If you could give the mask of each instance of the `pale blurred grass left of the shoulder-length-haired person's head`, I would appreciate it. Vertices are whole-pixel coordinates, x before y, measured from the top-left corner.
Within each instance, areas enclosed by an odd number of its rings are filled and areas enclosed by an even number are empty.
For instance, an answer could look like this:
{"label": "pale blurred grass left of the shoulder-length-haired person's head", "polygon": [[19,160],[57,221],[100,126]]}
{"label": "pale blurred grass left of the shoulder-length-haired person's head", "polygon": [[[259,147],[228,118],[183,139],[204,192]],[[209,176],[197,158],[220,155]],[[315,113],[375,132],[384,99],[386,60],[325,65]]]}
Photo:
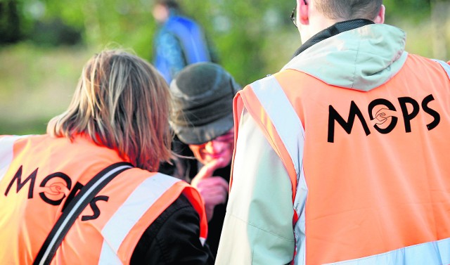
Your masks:
{"label": "pale blurred grass left of the shoulder-length-haired person's head", "polygon": [[82,46],[48,49],[29,43],[0,49],[0,134],[41,134],[70,103],[84,63]]}

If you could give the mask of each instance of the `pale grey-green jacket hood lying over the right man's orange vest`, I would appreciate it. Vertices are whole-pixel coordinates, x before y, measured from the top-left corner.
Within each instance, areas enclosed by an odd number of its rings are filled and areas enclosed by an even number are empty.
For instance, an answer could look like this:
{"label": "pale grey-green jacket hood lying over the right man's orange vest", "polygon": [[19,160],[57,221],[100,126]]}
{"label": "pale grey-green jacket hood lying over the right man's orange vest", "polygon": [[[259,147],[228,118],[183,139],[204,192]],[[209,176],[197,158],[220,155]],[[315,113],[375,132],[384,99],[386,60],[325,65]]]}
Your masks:
{"label": "pale grey-green jacket hood lying over the right man's orange vest", "polygon": [[342,32],[304,50],[283,67],[299,70],[333,86],[370,91],[399,72],[408,53],[406,33],[372,24]]}

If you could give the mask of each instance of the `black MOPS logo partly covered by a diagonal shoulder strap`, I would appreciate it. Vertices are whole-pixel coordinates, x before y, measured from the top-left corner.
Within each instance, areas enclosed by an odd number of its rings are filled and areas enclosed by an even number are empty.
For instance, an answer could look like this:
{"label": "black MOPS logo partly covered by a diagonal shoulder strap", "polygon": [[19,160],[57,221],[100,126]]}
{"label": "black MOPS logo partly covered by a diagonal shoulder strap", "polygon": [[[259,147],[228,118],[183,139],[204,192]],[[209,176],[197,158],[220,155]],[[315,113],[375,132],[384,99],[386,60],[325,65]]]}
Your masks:
{"label": "black MOPS logo partly covered by a diagonal shoulder strap", "polygon": [[[14,184],[16,185],[15,193],[19,193],[20,190],[22,190],[22,188],[24,188],[25,185],[28,184],[27,198],[32,199],[37,172],[38,169],[34,169],[34,171],[30,175],[28,175],[26,179],[23,179],[23,166],[20,166],[18,171],[15,172],[13,179],[11,179],[10,183],[8,184],[8,187],[6,188],[6,191],[4,193],[5,196],[8,196],[8,193],[10,193],[11,188],[13,188]],[[79,182],[75,183],[72,188],[72,179],[70,179],[67,174],[56,172],[49,174],[41,181],[41,183],[39,184],[39,197],[49,205],[57,206],[64,202],[64,210],[69,202],[73,200],[73,198],[75,198],[75,195],[77,195],[78,191],[81,188],[83,188],[83,185]],[[98,195],[93,200],[91,200],[91,202],[89,202],[89,205],[94,214],[90,216],[82,216],[82,221],[97,219],[98,216],[100,216],[101,212],[96,202],[98,202],[99,200],[108,202],[108,199],[108,196]]]}

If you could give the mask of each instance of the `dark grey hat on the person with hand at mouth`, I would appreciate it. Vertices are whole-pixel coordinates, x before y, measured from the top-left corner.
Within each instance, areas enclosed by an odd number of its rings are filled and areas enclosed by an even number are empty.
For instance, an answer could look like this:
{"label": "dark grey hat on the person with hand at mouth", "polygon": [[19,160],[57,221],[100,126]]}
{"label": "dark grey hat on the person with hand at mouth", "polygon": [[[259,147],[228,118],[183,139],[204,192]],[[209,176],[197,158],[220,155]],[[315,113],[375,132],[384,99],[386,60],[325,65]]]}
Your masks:
{"label": "dark grey hat on the person with hand at mouth", "polygon": [[201,144],[233,127],[233,97],[240,86],[215,63],[195,63],[170,83],[170,126],[186,144]]}

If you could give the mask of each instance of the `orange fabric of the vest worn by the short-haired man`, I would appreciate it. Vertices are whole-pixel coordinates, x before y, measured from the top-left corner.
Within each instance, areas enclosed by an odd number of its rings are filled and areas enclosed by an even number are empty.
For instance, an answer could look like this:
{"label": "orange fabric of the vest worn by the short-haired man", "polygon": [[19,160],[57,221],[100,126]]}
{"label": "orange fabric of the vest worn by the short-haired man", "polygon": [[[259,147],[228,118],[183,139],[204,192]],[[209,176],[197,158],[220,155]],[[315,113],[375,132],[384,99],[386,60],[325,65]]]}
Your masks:
{"label": "orange fabric of the vest worn by the short-haired man", "polygon": [[[369,92],[330,86],[296,70],[275,77],[305,130],[306,264],[450,238],[450,85],[438,63],[410,55],[397,75]],[[265,122],[264,110],[248,99],[248,90],[243,93],[245,108],[287,161],[285,150],[269,133],[272,127]],[[374,104],[369,114],[369,106],[378,99],[389,101],[395,110]],[[352,102],[361,110],[369,134],[356,117],[349,133],[331,122],[335,131],[333,142],[328,141],[330,108],[347,121]],[[436,127],[435,113],[440,115]],[[377,114],[379,119],[371,120],[370,115]],[[389,133],[375,129],[386,129],[395,119]]]}

